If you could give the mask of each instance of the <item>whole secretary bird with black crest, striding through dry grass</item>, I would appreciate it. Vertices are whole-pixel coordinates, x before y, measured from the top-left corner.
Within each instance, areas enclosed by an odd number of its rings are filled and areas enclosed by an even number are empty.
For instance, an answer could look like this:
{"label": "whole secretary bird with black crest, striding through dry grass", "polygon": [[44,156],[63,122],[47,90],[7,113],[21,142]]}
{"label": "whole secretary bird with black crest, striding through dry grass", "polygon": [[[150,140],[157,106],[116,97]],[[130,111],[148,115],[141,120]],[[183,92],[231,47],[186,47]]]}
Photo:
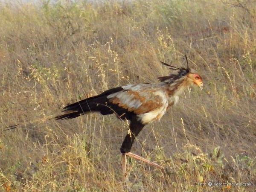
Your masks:
{"label": "whole secretary bird with black crest, striding through dry grass", "polygon": [[[97,96],[67,105],[63,108],[62,113],[54,118],[56,120],[73,119],[94,112],[99,112],[102,115],[115,113],[120,119],[130,121],[130,130],[120,148],[124,175],[126,174],[127,164],[125,156],[142,160],[163,170],[163,167],[157,163],[146,160],[130,151],[135,138],[143,127],[160,120],[166,110],[178,102],[180,94],[183,93],[186,87],[196,84],[202,90],[203,81],[201,76],[198,75],[197,71],[189,68],[187,57],[186,61],[187,68],[177,68],[160,61],[163,65],[168,66],[170,70],[176,70],[177,74],[159,77],[160,83],[129,84],[106,90]],[[10,126],[9,129],[17,126]]]}

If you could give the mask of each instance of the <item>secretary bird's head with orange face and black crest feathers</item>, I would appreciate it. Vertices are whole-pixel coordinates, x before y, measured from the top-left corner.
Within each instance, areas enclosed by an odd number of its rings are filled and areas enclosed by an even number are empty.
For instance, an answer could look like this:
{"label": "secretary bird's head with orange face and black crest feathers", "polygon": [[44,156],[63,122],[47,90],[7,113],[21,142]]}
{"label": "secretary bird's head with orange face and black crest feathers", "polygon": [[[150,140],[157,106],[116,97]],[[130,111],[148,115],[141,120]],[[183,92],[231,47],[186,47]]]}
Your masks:
{"label": "secretary bird's head with orange face and black crest feathers", "polygon": [[171,70],[177,70],[178,74],[171,73],[169,76],[159,77],[158,79],[161,82],[166,82],[166,83],[174,83],[175,81],[186,79],[189,84],[196,84],[202,90],[203,89],[202,77],[198,74],[196,70],[189,68],[189,62],[186,55],[185,55],[185,58],[187,61],[187,68],[184,68],[184,67],[177,68],[160,61],[163,65],[168,66]]}

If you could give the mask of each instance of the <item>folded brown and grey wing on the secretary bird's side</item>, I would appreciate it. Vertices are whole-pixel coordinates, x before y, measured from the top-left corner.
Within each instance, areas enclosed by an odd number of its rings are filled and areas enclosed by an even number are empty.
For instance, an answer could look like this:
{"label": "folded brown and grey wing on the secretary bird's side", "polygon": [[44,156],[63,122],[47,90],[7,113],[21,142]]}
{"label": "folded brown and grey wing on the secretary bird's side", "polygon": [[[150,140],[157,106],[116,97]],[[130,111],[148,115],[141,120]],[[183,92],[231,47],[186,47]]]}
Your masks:
{"label": "folded brown and grey wing on the secretary bird's side", "polygon": [[124,90],[108,95],[119,107],[136,114],[148,113],[163,107],[168,102],[162,87],[156,84],[137,84],[122,87]]}

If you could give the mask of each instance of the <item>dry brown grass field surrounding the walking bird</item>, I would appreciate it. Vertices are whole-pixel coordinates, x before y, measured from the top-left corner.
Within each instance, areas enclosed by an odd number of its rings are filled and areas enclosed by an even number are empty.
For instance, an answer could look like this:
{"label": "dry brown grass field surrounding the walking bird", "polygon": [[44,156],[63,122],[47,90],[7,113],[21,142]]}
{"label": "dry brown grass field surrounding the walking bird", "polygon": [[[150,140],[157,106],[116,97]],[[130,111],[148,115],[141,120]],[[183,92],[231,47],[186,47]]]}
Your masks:
{"label": "dry brown grass field surrounding the walking bird", "polygon": [[[255,1],[2,3],[0,18],[1,192],[256,191]],[[170,73],[159,61],[185,67],[185,54],[204,89],[186,90],[132,148],[166,172],[129,158],[123,178],[128,122],[115,115],[45,120],[109,88],[156,83]]]}

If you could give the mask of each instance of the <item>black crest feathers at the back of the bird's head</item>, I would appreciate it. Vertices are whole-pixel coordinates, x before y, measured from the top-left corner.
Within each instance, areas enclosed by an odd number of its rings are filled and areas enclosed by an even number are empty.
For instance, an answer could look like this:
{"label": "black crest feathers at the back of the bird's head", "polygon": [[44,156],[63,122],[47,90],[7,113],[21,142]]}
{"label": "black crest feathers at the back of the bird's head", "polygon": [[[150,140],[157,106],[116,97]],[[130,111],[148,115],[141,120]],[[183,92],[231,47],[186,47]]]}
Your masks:
{"label": "black crest feathers at the back of the bird's head", "polygon": [[186,74],[189,73],[190,69],[189,69],[189,62],[188,62],[188,58],[187,56],[185,55],[185,58],[186,58],[186,61],[187,61],[187,68],[184,68],[184,67],[174,67],[172,65],[169,65],[169,64],[166,64],[164,63],[163,61],[160,61],[163,65],[165,66],[168,66],[170,70],[177,70],[178,71],[178,74],[170,74],[169,76],[164,76],[164,77],[158,77],[158,79],[163,82],[163,81],[166,81],[166,80],[176,80],[176,79],[179,79],[180,77],[182,76],[185,76]]}

